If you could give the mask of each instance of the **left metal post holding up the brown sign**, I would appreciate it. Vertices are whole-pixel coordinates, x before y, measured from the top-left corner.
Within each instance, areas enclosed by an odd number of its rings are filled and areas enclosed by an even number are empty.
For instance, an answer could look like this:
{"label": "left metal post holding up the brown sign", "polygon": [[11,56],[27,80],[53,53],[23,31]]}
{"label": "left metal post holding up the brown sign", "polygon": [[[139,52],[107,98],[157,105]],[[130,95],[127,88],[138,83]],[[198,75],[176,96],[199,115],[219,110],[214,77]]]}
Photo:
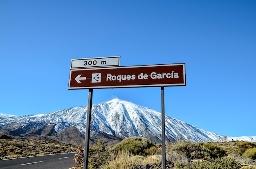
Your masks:
{"label": "left metal post holding up the brown sign", "polygon": [[93,89],[89,89],[87,117],[86,117],[85,148],[84,148],[84,156],[83,156],[83,169],[87,169],[87,166],[88,166],[91,115],[92,115],[92,92],[93,92]]}

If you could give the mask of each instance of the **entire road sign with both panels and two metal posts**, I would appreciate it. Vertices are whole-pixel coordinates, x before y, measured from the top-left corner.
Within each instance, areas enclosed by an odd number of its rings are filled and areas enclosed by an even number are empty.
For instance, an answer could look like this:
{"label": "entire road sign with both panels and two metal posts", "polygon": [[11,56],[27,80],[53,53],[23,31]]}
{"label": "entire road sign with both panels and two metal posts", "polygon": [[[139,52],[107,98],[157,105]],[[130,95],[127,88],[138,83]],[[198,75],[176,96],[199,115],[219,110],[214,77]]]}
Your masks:
{"label": "entire road sign with both panels and two metal posts", "polygon": [[68,89],[89,89],[83,169],[88,166],[93,89],[161,87],[162,162],[165,158],[164,86],[186,86],[185,64],[120,66],[120,56],[72,59]]}

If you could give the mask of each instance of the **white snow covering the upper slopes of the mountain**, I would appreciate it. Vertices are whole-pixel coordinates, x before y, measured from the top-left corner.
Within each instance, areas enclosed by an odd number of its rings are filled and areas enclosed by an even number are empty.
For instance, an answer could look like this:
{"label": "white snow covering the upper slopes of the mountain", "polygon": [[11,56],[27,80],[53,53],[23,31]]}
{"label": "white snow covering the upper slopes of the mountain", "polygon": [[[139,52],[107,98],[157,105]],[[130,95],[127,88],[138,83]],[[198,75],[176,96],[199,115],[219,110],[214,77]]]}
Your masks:
{"label": "white snow covering the upper slopes of the mountain", "polygon": [[[56,132],[65,127],[74,126],[85,134],[87,106],[59,110],[50,114],[11,116],[0,114],[0,126],[20,123],[33,123],[31,129],[42,126],[42,123],[55,125]],[[170,116],[165,116],[166,141],[173,142],[182,138],[193,142],[223,141],[215,133],[199,129],[193,125]],[[128,138],[140,136],[155,143],[162,139],[161,113],[127,101],[113,99],[106,103],[92,105],[92,130],[101,133]]]}

